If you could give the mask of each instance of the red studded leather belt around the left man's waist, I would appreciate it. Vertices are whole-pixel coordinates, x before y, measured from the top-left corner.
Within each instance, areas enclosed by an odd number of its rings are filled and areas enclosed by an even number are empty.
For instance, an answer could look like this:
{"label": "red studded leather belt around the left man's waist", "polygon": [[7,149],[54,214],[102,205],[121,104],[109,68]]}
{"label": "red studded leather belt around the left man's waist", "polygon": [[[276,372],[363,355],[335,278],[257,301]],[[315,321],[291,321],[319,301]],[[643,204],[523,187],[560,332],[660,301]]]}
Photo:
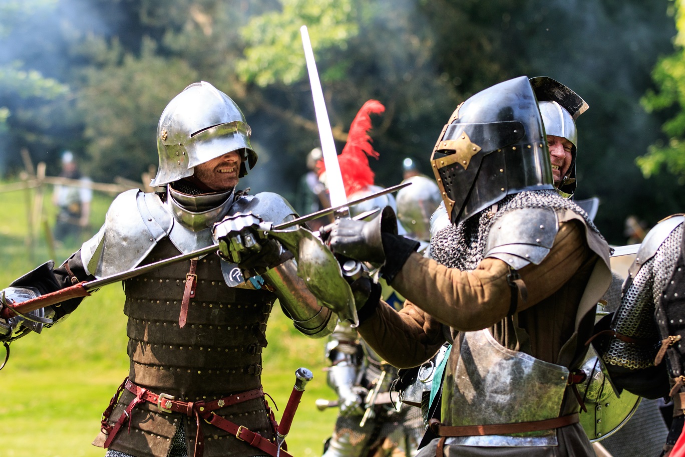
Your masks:
{"label": "red studded leather belt around the left man's waist", "polygon": [[[136,395],[131,403],[125,408],[123,414],[119,419],[116,420],[114,425],[108,423],[109,415],[112,413],[112,409],[119,398],[119,395],[126,389],[130,393]],[[220,428],[225,432],[229,432],[234,435],[237,439],[245,441],[249,445],[261,449],[267,454],[275,457],[278,454],[278,447],[264,436],[252,432],[243,425],[237,425],[228,419],[214,414],[214,410],[223,408],[224,406],[229,406],[233,404],[238,404],[240,402],[246,402],[247,400],[264,397],[264,391],[262,388],[256,388],[252,391],[236,393],[234,395],[228,395],[212,402],[182,402],[175,399],[171,395],[165,393],[153,393],[145,387],[140,387],[131,382],[128,378],[119,386],[119,390],[116,392],[114,397],[112,397],[112,402],[110,406],[103,413],[102,421],[102,431],[107,434],[107,439],[105,439],[104,447],[110,447],[110,444],[114,440],[114,436],[121,430],[121,427],[126,423],[131,417],[131,412],[136,405],[142,402],[149,402],[160,410],[160,412],[178,412],[184,414],[188,417],[195,417],[197,421],[197,434],[195,436],[195,457],[202,457],[204,449],[204,435],[202,433],[200,419],[204,419],[208,423],[214,425],[216,428]],[[129,422],[129,432],[131,429],[131,423]],[[292,457],[284,449],[281,449],[280,455],[284,457]]]}

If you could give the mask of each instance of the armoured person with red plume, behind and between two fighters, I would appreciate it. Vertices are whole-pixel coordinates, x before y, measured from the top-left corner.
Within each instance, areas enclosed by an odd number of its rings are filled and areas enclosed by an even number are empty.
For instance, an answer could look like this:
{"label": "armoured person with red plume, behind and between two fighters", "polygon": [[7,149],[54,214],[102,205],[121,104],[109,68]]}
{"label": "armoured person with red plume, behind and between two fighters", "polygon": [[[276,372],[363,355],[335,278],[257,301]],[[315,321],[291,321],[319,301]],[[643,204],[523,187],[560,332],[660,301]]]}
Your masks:
{"label": "armoured person with red plume, behind and between two fighters", "polygon": [[[366,134],[371,126],[369,113],[379,114],[382,110],[384,106],[378,101],[366,101],[350,125],[347,144],[338,158],[348,200],[382,190],[374,184],[374,173],[366,157],[378,155]],[[410,188],[412,186],[406,189]],[[353,206],[350,215],[354,217],[386,207],[397,208],[395,198],[390,194]],[[406,233],[399,223],[396,228],[398,232]],[[404,301],[386,284],[383,284],[383,297],[395,306],[401,306]],[[423,434],[423,423],[418,410],[407,406],[396,408],[393,400],[397,397],[390,397],[390,385],[397,369],[376,354],[346,321],[340,321],[329,338],[326,356],[331,361],[327,380],[338,395],[340,414],[323,455],[364,457],[383,448],[414,456]]]}

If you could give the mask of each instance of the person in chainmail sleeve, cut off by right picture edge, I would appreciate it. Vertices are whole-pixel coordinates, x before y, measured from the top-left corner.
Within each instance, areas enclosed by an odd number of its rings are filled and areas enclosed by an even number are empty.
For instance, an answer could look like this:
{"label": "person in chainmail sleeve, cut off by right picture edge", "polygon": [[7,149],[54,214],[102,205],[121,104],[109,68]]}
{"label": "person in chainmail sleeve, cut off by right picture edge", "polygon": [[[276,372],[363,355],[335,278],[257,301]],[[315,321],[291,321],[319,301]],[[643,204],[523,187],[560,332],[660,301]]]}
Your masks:
{"label": "person in chainmail sleeve, cut off by right picture edge", "polygon": [[673,400],[666,455],[685,423],[683,221],[682,214],[675,214],[649,231],[628,270],[619,309],[602,332],[610,337],[593,341],[619,388]]}

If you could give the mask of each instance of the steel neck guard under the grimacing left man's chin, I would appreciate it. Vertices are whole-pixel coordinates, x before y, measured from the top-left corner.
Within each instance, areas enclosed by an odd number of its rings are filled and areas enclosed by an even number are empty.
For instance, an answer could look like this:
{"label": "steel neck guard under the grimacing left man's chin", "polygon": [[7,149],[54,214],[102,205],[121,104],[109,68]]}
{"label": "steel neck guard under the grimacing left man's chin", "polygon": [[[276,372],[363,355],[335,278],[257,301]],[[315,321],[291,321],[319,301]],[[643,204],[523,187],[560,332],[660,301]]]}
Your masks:
{"label": "steel neck guard under the grimacing left man's chin", "polygon": [[169,186],[169,206],[176,221],[199,232],[221,221],[233,204],[236,189],[189,195]]}

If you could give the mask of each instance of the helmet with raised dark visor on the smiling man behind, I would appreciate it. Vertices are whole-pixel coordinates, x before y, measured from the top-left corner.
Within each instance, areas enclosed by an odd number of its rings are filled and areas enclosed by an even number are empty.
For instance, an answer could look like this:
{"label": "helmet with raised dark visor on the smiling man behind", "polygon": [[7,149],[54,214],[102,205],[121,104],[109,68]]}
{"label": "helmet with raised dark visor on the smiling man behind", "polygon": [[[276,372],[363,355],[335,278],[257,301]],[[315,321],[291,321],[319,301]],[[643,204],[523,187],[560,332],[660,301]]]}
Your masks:
{"label": "helmet with raised dark visor on the smiling man behind", "polygon": [[545,133],[566,138],[573,144],[571,166],[569,166],[566,176],[562,177],[561,183],[558,184],[562,193],[571,196],[575,192],[575,158],[578,149],[578,131],[575,127],[575,119],[583,114],[589,106],[573,90],[550,77],[532,77],[530,84],[533,86],[540,105]]}

